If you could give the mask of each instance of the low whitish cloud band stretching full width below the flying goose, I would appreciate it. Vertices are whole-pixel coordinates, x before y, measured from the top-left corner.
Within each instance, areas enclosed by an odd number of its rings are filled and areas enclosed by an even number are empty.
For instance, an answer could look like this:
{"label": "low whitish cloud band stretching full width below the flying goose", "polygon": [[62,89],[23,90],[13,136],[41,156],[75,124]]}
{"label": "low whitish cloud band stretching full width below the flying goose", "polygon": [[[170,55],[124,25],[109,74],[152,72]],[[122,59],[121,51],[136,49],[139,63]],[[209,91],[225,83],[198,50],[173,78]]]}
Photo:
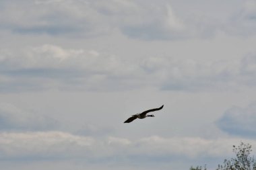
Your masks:
{"label": "low whitish cloud band stretching full width below the flying goose", "polygon": [[[222,138],[207,140],[204,138],[163,138],[150,136],[129,140],[127,138],[106,137],[92,138],[90,136],[77,136],[65,132],[26,132],[0,134],[0,152],[2,159],[22,159],[27,157],[55,159],[80,158],[88,161],[151,161],[158,157],[182,156],[185,159],[199,159],[201,157],[224,157],[232,154],[232,145],[239,144],[240,138]],[[247,141],[246,141],[247,142]],[[248,140],[255,146],[254,140]],[[67,154],[68,153],[68,154]],[[141,159],[133,159],[144,155]],[[137,157],[139,158],[139,157]]]}

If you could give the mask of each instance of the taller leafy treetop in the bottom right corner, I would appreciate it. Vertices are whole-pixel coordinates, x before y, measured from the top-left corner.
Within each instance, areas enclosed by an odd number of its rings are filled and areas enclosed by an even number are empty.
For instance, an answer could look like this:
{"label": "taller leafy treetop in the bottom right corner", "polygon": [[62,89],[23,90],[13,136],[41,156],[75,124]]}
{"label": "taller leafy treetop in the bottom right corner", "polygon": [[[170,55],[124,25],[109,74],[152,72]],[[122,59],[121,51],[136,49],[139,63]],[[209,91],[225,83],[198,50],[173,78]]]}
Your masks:
{"label": "taller leafy treetop in the bottom right corner", "polygon": [[256,170],[256,161],[251,157],[251,144],[241,142],[240,146],[233,146],[236,158],[224,160],[224,165],[218,165],[216,170]]}

